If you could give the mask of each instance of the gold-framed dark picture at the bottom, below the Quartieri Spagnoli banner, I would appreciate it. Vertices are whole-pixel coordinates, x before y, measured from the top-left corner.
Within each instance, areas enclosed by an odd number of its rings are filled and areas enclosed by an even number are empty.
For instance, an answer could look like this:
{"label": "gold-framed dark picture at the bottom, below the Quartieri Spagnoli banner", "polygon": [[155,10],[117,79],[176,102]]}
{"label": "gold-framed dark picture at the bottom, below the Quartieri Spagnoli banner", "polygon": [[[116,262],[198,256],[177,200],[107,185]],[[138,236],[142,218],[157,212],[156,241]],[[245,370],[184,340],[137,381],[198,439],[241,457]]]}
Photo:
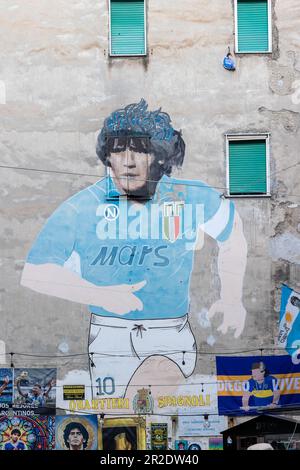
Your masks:
{"label": "gold-framed dark picture at the bottom, below the Quartieri Spagnoli banner", "polygon": [[146,421],[144,418],[107,418],[99,424],[99,449],[145,450]]}

